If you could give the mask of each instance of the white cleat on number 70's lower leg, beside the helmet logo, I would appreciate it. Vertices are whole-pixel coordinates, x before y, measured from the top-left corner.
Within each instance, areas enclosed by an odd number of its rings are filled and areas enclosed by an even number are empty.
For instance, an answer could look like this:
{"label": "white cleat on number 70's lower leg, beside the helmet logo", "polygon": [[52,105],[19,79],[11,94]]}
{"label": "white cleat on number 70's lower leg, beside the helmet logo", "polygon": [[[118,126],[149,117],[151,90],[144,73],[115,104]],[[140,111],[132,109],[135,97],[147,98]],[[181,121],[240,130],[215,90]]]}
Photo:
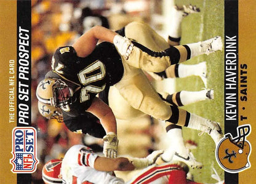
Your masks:
{"label": "white cleat on number 70's lower leg, beside the helmet logo", "polygon": [[202,124],[200,130],[202,131],[198,135],[201,136],[204,133],[207,133],[212,137],[217,146],[220,140],[223,138],[222,128],[218,122],[207,120],[206,124]]}

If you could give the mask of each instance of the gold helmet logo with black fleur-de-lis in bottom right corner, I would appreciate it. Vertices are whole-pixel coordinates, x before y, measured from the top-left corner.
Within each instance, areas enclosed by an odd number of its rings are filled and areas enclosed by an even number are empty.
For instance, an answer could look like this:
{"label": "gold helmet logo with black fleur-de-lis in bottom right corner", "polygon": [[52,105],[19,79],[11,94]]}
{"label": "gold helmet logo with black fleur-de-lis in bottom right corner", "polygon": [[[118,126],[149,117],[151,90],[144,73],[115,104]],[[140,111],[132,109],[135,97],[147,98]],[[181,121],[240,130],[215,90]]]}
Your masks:
{"label": "gold helmet logo with black fleur-de-lis in bottom right corner", "polygon": [[228,133],[218,143],[216,159],[223,170],[230,173],[238,173],[250,168],[249,155],[251,152],[250,142],[246,140],[250,134],[250,124],[236,128],[238,135],[234,137]]}

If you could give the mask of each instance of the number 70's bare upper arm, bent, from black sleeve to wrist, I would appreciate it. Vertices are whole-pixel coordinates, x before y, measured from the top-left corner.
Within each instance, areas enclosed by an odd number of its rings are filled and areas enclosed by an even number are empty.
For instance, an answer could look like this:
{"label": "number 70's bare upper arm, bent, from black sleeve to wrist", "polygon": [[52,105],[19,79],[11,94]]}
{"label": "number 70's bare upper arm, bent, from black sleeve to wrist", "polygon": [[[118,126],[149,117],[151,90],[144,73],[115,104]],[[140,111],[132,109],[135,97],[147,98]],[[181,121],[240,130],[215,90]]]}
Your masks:
{"label": "number 70's bare upper arm, bent, from black sleeve to wrist", "polygon": [[94,26],[73,44],[74,50],[79,57],[87,57],[95,49],[98,40],[113,43],[114,36],[118,33],[111,31],[103,26]]}

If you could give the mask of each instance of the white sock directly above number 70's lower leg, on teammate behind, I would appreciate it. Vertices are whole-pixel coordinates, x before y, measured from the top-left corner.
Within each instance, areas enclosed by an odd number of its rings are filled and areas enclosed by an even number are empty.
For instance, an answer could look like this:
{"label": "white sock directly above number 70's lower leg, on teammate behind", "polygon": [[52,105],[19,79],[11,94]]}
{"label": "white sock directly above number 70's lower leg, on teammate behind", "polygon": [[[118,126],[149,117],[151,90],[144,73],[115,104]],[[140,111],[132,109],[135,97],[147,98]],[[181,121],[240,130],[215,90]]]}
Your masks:
{"label": "white sock directly above number 70's lower leg, on teammate behind", "polygon": [[200,102],[202,100],[208,99],[206,97],[206,93],[207,93],[207,90],[199,90],[199,91],[182,90],[180,92],[180,101],[182,101],[183,105]]}

